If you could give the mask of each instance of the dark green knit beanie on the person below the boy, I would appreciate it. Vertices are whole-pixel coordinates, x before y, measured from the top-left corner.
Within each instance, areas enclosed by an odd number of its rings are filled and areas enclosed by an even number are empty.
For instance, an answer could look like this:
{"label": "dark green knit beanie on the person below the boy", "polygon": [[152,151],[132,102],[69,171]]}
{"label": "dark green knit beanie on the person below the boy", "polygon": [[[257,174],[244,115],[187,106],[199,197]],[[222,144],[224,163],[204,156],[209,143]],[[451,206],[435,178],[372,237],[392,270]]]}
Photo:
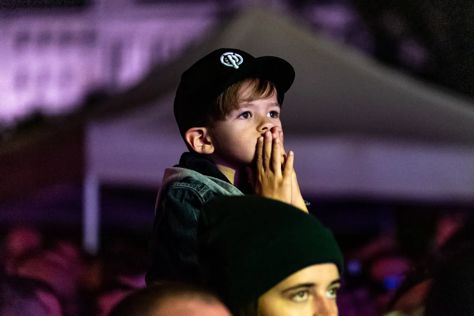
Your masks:
{"label": "dark green knit beanie on the person below the boy", "polygon": [[255,195],[220,196],[204,205],[198,243],[204,281],[234,314],[310,265],[343,269],[334,236],[316,217]]}

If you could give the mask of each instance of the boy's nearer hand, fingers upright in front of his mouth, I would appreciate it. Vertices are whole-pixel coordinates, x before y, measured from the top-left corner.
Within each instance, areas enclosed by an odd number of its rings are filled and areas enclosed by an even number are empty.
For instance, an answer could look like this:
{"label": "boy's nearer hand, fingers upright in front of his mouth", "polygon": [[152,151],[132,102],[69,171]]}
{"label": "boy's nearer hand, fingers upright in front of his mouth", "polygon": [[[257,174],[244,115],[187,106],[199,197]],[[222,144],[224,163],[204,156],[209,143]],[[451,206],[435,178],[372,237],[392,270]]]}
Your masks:
{"label": "boy's nearer hand, fingers upright in front of his mouth", "polygon": [[[282,168],[280,138],[273,138],[270,131],[258,137],[256,148],[256,174],[247,167],[247,175],[256,194],[291,204],[293,153],[290,152]],[[283,171],[282,171],[283,169]]]}

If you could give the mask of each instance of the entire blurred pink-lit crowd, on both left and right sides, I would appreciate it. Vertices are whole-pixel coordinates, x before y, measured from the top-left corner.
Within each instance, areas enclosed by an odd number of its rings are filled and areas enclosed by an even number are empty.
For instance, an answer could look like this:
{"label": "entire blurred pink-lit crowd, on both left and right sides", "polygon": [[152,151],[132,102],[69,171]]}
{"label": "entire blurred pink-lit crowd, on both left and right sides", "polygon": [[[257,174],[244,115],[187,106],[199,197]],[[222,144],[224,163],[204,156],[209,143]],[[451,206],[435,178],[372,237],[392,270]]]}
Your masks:
{"label": "entire blurred pink-lit crowd, on both left and right sides", "polygon": [[[346,260],[337,294],[339,315],[380,316],[393,309],[423,315],[437,271],[447,257],[470,253],[474,242],[468,212],[429,215],[414,217],[410,225],[400,219],[403,231],[419,227],[405,236],[353,235],[348,243],[336,235]],[[420,223],[427,220],[429,225]],[[38,316],[105,316],[127,295],[145,288],[146,242],[137,236],[116,234],[104,242],[98,256],[86,255],[78,240],[63,236],[34,227],[11,227],[4,232],[1,315],[30,315],[28,311],[36,308]],[[15,307],[25,314],[5,312]],[[44,308],[42,313],[37,312],[39,307]]]}

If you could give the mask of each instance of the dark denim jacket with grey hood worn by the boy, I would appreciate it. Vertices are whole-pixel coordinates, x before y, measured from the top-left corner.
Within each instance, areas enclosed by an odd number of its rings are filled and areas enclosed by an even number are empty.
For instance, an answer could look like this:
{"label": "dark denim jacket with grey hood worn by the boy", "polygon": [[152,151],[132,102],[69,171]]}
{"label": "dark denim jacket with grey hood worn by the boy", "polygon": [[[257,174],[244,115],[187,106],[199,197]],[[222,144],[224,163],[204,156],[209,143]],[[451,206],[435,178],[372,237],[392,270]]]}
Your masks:
{"label": "dark denim jacket with grey hood worn by the boy", "polygon": [[204,155],[183,153],[178,165],[165,170],[158,191],[146,283],[199,284],[196,229],[200,209],[217,195],[243,194]]}

